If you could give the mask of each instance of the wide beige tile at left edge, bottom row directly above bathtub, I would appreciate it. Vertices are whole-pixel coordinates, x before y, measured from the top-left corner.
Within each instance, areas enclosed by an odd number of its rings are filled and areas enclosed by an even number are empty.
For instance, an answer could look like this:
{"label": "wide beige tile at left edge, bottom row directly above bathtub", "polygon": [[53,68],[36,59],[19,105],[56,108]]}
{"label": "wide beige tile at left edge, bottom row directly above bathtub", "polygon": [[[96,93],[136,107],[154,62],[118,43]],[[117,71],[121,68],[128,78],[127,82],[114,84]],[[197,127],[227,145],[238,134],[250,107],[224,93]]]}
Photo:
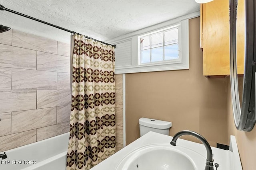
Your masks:
{"label": "wide beige tile at left edge, bottom row directly above bathtub", "polygon": [[0,152],[36,142],[36,130],[0,137]]}

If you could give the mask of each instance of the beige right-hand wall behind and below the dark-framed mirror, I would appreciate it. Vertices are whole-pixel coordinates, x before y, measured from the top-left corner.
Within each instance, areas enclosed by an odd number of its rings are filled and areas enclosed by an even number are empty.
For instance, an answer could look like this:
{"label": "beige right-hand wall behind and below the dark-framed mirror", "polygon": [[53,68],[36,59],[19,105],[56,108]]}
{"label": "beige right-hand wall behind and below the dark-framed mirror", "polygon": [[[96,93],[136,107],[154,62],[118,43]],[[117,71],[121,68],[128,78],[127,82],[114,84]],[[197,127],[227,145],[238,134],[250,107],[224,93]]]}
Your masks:
{"label": "beige right-hand wall behind and below the dark-framed mirror", "polygon": [[[242,92],[243,78],[238,78],[239,92]],[[240,94],[241,96],[241,94]],[[255,170],[255,155],[256,155],[256,126],[250,132],[238,131],[234,124],[230,80],[228,80],[228,95],[227,95],[227,109],[228,109],[228,137],[234,135],[244,170]]]}

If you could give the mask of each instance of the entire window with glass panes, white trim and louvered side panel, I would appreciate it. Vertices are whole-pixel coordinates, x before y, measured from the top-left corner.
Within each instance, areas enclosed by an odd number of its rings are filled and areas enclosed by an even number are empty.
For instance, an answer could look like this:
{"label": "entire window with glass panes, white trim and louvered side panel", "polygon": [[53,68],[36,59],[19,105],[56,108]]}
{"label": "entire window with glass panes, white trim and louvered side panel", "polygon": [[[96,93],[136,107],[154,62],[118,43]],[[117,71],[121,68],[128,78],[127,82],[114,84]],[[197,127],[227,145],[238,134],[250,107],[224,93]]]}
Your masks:
{"label": "entire window with glass panes, white trim and louvered side panel", "polygon": [[189,69],[188,20],[199,12],[116,37],[116,74]]}

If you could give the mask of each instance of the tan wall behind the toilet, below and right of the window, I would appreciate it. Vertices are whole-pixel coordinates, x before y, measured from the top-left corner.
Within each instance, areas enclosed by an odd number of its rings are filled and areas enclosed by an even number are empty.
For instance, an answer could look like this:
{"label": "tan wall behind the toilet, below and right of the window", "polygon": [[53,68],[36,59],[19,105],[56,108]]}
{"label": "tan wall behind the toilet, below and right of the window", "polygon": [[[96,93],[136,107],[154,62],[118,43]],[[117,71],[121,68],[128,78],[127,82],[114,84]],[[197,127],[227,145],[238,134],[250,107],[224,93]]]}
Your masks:
{"label": "tan wall behind the toilet, below and right of the window", "polygon": [[[225,78],[203,76],[200,20],[189,21],[189,70],[126,74],[126,143],[140,137],[140,117],[171,121],[170,135],[192,130],[228,145]],[[185,137],[196,141],[193,137]]]}

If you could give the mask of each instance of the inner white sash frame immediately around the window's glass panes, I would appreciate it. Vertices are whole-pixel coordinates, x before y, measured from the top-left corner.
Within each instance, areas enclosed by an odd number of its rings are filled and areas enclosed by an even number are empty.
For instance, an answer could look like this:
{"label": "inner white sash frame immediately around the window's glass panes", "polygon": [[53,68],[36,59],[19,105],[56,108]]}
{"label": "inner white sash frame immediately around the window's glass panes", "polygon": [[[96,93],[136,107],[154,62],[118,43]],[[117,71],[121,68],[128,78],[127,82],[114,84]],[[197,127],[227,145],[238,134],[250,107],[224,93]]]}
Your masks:
{"label": "inner white sash frame immediately around the window's glass panes", "polygon": [[[140,63],[140,38],[141,37],[146,37],[147,35],[150,35],[150,41],[151,41],[151,36],[156,34],[156,33],[160,33],[160,32],[163,32],[163,46],[159,46],[159,47],[163,47],[164,48],[164,31],[167,31],[169,29],[172,29],[172,28],[178,28],[178,46],[179,46],[179,58],[178,59],[173,59],[173,60],[163,60],[163,61],[154,61],[154,62],[149,62],[149,63]],[[156,30],[156,31],[153,31],[151,33],[147,33],[147,34],[144,34],[144,35],[140,35],[138,36],[138,65],[142,66],[142,65],[147,65],[147,66],[154,66],[154,65],[159,65],[159,64],[172,64],[172,63],[180,63],[181,62],[181,49],[182,49],[182,39],[181,39],[181,23],[178,23],[176,25],[172,25],[170,27],[167,27],[167,28],[164,28],[164,29],[159,29],[159,30]],[[154,48],[157,48],[157,47],[154,47]],[[149,48],[150,49],[150,56],[151,56],[151,49],[154,49],[154,48]],[[151,57],[150,57],[151,58]]]}

